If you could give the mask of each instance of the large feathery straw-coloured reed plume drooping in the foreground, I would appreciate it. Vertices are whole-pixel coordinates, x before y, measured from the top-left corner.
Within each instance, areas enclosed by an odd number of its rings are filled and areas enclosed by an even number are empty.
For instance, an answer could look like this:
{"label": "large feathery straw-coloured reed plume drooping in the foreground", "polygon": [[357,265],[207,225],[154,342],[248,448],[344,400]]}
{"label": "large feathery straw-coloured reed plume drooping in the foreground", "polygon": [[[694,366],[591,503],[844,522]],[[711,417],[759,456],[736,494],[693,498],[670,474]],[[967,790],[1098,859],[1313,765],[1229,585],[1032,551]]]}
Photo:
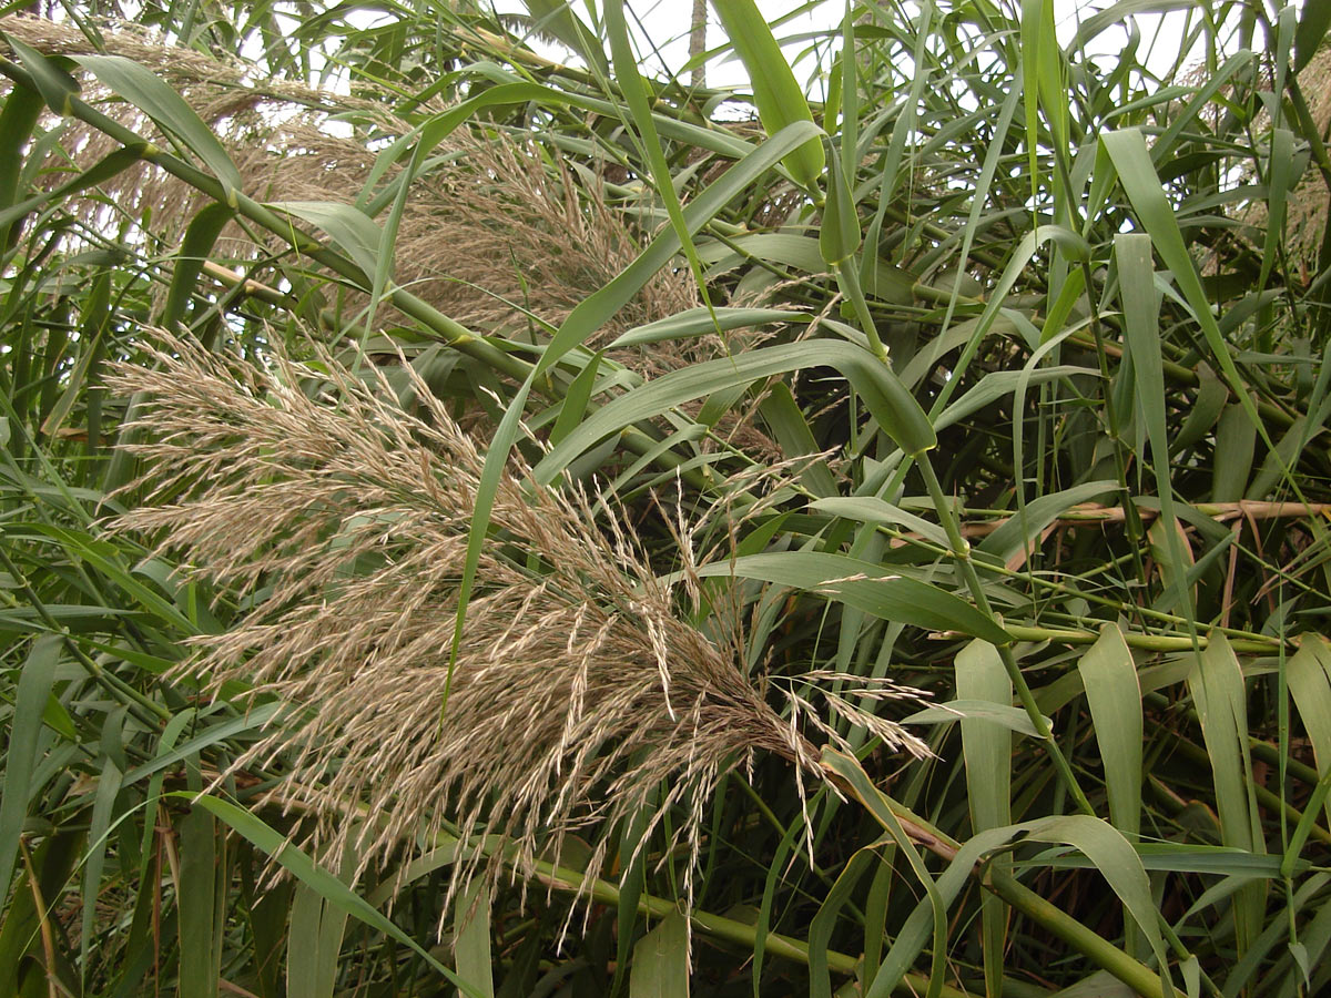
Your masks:
{"label": "large feathery straw-coloured reed plume drooping in the foreground", "polygon": [[[516,460],[450,685],[475,442],[419,382],[418,413],[403,411],[374,367],[355,377],[317,351],[314,366],[278,357],[262,370],[160,342],[154,369],[121,366],[112,383],[153,399],[138,422],[142,504],[116,528],[260,593],[197,639],[185,672],[285,705],[236,766],[285,773],[274,797],[323,816],[321,850],[369,864],[439,832],[502,836],[506,862],[530,873],[570,833],[677,805],[691,817],[668,845],[696,857],[703,801],[729,768],[765,750],[817,772],[735,651],[680,619],[614,504],[594,512]],[[349,821],[359,804],[367,820]],[[588,876],[630,858],[594,841]],[[500,852],[457,864],[451,890],[498,874]]]}

